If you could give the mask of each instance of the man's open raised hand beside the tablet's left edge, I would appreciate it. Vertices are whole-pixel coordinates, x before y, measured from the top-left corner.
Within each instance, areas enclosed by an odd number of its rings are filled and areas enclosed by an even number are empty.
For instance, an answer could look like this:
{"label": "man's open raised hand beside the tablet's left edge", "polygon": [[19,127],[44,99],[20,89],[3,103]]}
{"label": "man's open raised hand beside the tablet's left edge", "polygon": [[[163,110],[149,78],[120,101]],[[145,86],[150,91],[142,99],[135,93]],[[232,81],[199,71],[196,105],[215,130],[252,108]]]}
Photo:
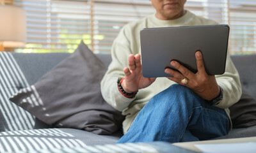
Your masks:
{"label": "man's open raised hand beside the tablet's left edge", "polygon": [[151,85],[156,78],[145,78],[142,76],[140,54],[129,55],[129,68],[124,68],[125,80],[122,82],[122,87],[125,92],[132,93]]}

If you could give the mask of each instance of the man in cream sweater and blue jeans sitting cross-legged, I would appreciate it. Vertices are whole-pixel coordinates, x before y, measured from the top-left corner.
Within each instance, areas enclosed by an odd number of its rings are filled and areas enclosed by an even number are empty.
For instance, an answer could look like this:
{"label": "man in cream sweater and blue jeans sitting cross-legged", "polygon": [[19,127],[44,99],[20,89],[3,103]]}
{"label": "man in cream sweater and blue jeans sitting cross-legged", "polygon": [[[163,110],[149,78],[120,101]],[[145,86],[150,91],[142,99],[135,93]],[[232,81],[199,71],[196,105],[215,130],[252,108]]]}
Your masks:
{"label": "man in cream sweater and blue jeans sitting cross-legged", "polygon": [[144,78],[140,61],[142,28],[218,23],[184,10],[186,0],[150,1],[156,13],[123,27],[101,82],[104,99],[125,115],[125,135],[118,143],[187,142],[227,135],[232,125],[228,107],[241,97],[239,75],[230,57],[225,73],[216,76],[207,75],[200,52],[195,54],[197,73],[172,61],[180,73],[165,69],[173,76],[168,78]]}

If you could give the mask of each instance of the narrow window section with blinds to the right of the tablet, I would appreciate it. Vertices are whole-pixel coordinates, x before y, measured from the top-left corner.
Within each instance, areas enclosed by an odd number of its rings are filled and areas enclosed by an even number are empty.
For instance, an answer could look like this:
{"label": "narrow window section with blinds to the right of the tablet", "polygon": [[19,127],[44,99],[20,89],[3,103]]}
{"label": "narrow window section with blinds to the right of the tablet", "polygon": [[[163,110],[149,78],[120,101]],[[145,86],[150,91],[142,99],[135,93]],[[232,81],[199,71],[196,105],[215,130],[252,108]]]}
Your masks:
{"label": "narrow window section with blinds to the right of the tablet", "polygon": [[230,0],[230,47],[234,53],[256,51],[256,1]]}

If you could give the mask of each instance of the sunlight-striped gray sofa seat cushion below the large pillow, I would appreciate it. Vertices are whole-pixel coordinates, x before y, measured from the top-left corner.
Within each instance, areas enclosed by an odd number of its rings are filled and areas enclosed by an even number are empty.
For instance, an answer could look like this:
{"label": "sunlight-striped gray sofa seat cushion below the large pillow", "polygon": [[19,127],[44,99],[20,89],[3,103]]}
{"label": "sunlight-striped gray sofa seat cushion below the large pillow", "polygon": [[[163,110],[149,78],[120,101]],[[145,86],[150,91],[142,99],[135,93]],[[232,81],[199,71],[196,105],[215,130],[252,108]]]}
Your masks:
{"label": "sunlight-striped gray sofa seat cushion below the large pillow", "polygon": [[42,149],[114,144],[118,138],[118,134],[116,136],[102,136],[68,128],[7,131],[0,133],[0,152],[31,152]]}

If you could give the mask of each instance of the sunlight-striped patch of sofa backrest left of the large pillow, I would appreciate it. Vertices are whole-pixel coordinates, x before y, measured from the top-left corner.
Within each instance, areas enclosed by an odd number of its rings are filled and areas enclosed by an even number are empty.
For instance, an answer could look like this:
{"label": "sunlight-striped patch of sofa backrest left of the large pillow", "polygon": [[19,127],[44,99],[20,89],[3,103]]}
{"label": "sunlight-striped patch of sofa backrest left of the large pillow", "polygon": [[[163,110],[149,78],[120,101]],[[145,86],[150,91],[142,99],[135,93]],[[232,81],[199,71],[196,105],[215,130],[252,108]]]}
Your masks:
{"label": "sunlight-striped patch of sofa backrest left of the large pillow", "polygon": [[0,130],[33,129],[35,117],[8,98],[29,84],[12,54],[0,53]]}

